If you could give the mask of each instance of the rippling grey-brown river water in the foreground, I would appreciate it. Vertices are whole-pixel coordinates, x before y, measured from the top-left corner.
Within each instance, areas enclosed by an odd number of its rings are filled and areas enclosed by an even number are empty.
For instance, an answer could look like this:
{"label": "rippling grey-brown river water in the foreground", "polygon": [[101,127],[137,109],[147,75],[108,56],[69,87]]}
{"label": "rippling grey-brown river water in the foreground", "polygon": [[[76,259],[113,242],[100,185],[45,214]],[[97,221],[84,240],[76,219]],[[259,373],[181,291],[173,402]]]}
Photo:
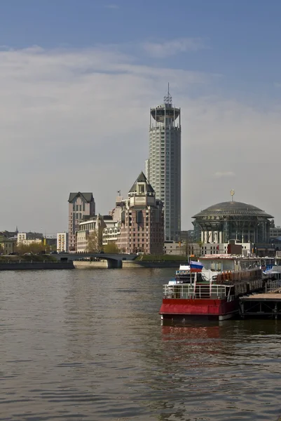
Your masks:
{"label": "rippling grey-brown river water in the foreground", "polygon": [[162,326],[173,273],[0,272],[0,420],[276,421],[280,321]]}

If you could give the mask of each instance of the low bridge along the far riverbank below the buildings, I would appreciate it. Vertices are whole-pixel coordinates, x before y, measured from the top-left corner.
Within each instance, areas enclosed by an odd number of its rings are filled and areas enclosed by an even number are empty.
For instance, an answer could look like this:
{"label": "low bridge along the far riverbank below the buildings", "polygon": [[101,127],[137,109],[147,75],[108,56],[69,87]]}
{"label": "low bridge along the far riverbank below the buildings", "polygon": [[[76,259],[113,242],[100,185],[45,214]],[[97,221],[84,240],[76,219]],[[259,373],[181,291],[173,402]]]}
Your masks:
{"label": "low bridge along the far riverbank below the buildings", "polygon": [[57,260],[81,260],[85,258],[107,260],[107,267],[122,267],[123,260],[135,260],[136,254],[115,254],[115,253],[59,253],[54,254]]}

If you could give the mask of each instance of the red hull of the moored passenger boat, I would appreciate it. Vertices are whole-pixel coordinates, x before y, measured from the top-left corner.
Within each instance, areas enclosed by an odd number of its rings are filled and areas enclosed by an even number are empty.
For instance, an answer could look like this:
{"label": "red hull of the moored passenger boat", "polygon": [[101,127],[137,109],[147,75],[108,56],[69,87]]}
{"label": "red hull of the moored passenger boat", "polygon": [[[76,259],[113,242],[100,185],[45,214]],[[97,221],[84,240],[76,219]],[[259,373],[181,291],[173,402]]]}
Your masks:
{"label": "red hull of the moored passenger boat", "polygon": [[238,300],[212,300],[212,299],[173,299],[163,298],[160,312],[163,319],[182,318],[192,316],[207,316],[212,319],[230,319],[238,313]]}

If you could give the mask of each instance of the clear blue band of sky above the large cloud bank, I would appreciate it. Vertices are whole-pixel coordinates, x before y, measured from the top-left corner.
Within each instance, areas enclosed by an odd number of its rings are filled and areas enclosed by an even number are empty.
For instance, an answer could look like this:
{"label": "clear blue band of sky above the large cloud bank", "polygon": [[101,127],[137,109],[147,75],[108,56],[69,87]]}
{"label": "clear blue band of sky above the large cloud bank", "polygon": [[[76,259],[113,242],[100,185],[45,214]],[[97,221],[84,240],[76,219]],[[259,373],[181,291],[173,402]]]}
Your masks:
{"label": "clear blue band of sky above the large cloud bank", "polygon": [[9,0],[1,2],[0,39],[14,48],[126,48],[144,40],[200,38],[207,51],[175,58],[174,66],[219,72],[242,85],[272,83],[280,77],[280,18],[278,0]]}

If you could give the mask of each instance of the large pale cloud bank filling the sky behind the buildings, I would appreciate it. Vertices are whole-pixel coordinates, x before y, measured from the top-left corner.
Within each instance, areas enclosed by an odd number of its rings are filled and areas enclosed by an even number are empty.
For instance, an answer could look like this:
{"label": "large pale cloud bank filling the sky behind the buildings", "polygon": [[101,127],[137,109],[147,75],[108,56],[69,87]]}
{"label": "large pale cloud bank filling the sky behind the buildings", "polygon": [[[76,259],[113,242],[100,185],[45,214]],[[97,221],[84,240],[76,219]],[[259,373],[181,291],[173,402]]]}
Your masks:
{"label": "large pale cloud bank filling the sky behind the buildings", "polygon": [[232,188],[280,224],[280,109],[203,97],[212,75],[139,65],[118,48],[34,46],[0,51],[0,229],[67,229],[71,191],[93,192],[100,213],[113,208],[144,169],[149,107],[167,81],[181,107],[183,229]]}

